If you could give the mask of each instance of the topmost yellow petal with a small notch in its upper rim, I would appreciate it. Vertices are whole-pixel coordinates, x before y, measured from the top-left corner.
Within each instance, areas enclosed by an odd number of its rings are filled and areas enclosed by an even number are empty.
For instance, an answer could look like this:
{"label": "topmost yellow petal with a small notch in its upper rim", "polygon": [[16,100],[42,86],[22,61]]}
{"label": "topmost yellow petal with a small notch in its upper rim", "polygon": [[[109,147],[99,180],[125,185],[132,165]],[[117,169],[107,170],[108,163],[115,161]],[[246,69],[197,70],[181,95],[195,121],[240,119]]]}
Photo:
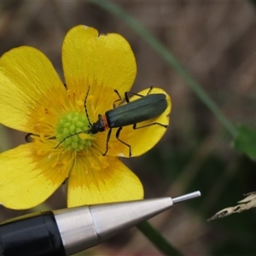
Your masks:
{"label": "topmost yellow petal with a small notch in its upper rim", "polygon": [[115,33],[99,36],[96,29],[82,25],[67,32],[62,63],[67,88],[86,92],[90,85],[93,95],[93,85],[98,84],[119,90],[123,96],[131,89],[137,73],[131,46],[125,38]]}

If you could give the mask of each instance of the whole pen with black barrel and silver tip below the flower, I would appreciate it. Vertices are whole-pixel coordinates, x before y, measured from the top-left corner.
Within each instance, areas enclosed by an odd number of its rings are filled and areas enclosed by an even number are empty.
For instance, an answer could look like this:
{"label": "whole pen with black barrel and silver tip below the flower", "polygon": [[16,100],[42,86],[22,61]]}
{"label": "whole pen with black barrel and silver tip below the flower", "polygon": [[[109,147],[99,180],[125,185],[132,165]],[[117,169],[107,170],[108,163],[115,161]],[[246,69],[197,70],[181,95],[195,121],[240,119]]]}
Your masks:
{"label": "whole pen with black barrel and silver tip below the flower", "polygon": [[195,191],[178,197],[82,206],[37,212],[0,224],[0,255],[67,256],[94,247],[171,208],[200,196]]}

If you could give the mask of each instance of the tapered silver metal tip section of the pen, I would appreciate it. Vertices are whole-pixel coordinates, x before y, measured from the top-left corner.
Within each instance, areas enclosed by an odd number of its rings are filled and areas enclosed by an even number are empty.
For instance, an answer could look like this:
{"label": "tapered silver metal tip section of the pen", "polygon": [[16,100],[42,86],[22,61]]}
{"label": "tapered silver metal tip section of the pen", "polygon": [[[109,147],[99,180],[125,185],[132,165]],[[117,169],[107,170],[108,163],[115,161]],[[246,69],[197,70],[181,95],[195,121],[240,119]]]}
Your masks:
{"label": "tapered silver metal tip section of the pen", "polygon": [[174,198],[163,197],[54,211],[67,255],[78,253],[128,230],[171,208],[173,204],[201,196],[200,191]]}

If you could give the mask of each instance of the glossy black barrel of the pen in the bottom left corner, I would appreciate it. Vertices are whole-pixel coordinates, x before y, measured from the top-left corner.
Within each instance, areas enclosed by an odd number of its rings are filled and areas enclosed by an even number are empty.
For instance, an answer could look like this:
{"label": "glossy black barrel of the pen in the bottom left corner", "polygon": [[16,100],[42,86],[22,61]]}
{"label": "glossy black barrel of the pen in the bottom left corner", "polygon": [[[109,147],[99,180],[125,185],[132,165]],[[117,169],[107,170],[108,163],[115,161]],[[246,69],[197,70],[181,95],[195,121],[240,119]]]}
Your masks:
{"label": "glossy black barrel of the pen in the bottom left corner", "polygon": [[0,224],[0,255],[65,255],[53,212],[31,214]]}

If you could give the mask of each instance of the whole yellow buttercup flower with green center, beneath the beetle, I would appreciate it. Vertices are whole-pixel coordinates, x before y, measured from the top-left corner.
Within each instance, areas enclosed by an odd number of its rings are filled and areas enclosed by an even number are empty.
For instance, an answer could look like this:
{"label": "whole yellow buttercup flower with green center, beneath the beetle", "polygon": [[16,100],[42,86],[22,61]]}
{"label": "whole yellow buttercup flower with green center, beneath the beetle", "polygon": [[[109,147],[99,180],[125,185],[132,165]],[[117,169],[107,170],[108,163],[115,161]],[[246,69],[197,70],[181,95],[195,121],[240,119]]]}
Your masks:
{"label": "whole yellow buttercup flower with green center, beneath the beetle", "polygon": [[[64,39],[62,63],[65,86],[38,49],[11,49],[0,59],[0,123],[32,134],[31,143],[0,154],[0,203],[13,209],[37,206],[67,177],[68,207],[142,199],[142,183],[117,158],[128,157],[129,150],[116,139],[116,129],[106,156],[102,154],[108,131],[68,137],[88,130],[87,115],[94,123],[99,113],[113,108],[118,99],[114,89],[120,96],[131,89],[137,67],[130,45],[119,34],[99,36],[92,27],[75,26]],[[165,93],[153,89],[158,91]],[[165,125],[171,111],[169,96],[167,101],[165,113],[155,119]],[[152,148],[165,131],[160,125],[138,130],[130,125],[120,138],[137,156]]]}

